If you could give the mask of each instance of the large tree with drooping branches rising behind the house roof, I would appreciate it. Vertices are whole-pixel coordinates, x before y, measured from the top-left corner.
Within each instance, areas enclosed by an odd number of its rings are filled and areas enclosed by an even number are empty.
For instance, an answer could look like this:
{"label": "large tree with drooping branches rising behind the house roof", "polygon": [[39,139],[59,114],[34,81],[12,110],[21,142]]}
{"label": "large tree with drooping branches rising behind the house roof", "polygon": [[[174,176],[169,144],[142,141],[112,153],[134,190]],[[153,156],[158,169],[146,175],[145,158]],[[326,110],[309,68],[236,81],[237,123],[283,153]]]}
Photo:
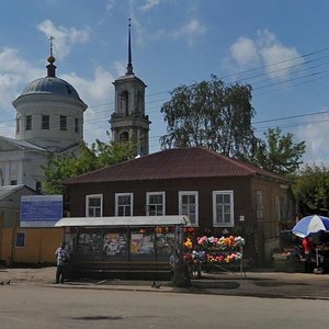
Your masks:
{"label": "large tree with drooping branches rising behind the house roof", "polygon": [[206,146],[226,156],[246,157],[254,139],[251,120],[251,87],[211,81],[181,86],[161,107],[167,135],[161,148]]}

